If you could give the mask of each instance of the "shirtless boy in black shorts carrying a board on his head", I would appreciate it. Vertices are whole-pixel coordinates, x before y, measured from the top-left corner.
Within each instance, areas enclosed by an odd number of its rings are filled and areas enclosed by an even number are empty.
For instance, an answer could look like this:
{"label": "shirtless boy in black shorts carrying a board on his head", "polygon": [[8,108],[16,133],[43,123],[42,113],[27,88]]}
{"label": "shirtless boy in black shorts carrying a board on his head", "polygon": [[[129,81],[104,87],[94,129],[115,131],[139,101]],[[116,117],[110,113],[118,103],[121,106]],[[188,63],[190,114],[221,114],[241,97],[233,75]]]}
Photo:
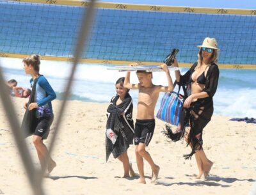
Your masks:
{"label": "shirtless boy in black shorts carrying a board on his head", "polygon": [[[132,64],[131,66],[136,66]],[[131,90],[139,90],[138,95],[138,112],[135,123],[134,143],[136,162],[140,174],[140,183],[146,183],[143,168],[143,158],[147,160],[152,169],[151,182],[157,180],[159,166],[157,166],[150,154],[146,151],[146,146],[150,143],[155,129],[155,107],[160,92],[168,92],[173,90],[172,77],[168,67],[163,64],[161,68],[166,73],[168,86],[154,85],[152,83],[152,72],[137,71],[138,84],[130,83],[130,72],[127,72],[124,87]]]}

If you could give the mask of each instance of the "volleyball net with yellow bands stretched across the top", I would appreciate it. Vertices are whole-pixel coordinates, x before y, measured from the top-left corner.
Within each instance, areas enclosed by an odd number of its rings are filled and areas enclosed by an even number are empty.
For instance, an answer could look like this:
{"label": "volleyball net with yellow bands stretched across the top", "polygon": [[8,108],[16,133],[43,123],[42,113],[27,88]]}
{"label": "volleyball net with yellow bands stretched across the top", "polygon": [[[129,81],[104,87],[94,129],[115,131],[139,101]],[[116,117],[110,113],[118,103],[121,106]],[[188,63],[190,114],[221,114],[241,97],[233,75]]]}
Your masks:
{"label": "volleyball net with yellow bands stretched across the top", "polygon": [[[72,61],[87,1],[0,0],[0,56]],[[156,65],[179,49],[197,60],[204,38],[218,41],[221,68],[256,68],[256,10],[96,3],[81,62]]]}

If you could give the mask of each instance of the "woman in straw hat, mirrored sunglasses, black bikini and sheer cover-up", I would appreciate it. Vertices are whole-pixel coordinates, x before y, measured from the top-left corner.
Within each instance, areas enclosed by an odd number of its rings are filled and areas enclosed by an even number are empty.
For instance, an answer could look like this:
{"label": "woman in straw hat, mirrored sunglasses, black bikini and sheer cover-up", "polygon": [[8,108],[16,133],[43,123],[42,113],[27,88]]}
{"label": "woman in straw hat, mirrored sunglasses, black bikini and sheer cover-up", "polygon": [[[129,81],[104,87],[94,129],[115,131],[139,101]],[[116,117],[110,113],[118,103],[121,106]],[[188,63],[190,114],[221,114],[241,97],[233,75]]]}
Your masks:
{"label": "woman in straw hat, mirrored sunglasses, black bikini and sheer cover-up", "polygon": [[[180,75],[179,70],[175,71],[175,77],[179,86],[186,86],[188,98],[184,101],[186,108],[189,131],[185,133],[185,139],[191,146],[192,152],[184,155],[186,159],[191,159],[195,153],[198,166],[198,176],[209,174],[212,167],[211,160],[207,159],[202,148],[202,132],[204,127],[211,121],[213,113],[213,101],[219,79],[219,68],[216,65],[218,60],[218,46],[215,38],[205,38],[202,45],[198,45],[198,61],[184,75]],[[175,59],[174,66],[178,66]]]}

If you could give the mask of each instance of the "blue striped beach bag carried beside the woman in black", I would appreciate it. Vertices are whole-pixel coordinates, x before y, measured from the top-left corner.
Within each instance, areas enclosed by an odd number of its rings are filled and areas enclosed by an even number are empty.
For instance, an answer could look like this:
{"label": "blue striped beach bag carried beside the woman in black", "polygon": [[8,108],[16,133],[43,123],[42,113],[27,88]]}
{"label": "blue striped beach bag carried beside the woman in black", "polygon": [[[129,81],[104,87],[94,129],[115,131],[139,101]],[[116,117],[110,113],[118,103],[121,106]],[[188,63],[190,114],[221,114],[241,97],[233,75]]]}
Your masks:
{"label": "blue striped beach bag carried beside the woman in black", "polygon": [[[174,83],[174,87],[176,83],[177,82]],[[156,117],[160,120],[163,120],[166,123],[170,123],[175,126],[179,125],[180,118],[184,118],[184,95],[181,95],[179,91],[178,93],[175,91],[172,91],[170,93],[164,93],[164,97],[161,100],[160,109],[156,114]],[[184,93],[186,93],[185,90]]]}

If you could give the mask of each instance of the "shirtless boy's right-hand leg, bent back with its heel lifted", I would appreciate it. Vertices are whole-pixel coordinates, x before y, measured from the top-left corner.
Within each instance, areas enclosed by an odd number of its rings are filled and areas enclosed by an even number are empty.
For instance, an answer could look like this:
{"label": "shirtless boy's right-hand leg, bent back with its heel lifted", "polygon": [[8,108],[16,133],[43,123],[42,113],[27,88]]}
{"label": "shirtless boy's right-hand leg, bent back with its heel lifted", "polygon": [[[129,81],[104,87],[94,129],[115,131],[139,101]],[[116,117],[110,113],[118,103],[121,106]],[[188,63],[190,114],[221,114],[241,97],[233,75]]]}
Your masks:
{"label": "shirtless boy's right-hand leg, bent back with its heel lifted", "polygon": [[140,143],[138,145],[137,151],[139,153],[139,155],[141,157],[143,157],[144,159],[147,160],[147,162],[150,164],[150,167],[152,169],[152,178],[151,181],[154,182],[155,180],[157,180],[158,177],[158,173],[159,173],[159,166],[157,166],[152,157],[150,156],[150,154],[146,151],[146,145],[144,143]]}

